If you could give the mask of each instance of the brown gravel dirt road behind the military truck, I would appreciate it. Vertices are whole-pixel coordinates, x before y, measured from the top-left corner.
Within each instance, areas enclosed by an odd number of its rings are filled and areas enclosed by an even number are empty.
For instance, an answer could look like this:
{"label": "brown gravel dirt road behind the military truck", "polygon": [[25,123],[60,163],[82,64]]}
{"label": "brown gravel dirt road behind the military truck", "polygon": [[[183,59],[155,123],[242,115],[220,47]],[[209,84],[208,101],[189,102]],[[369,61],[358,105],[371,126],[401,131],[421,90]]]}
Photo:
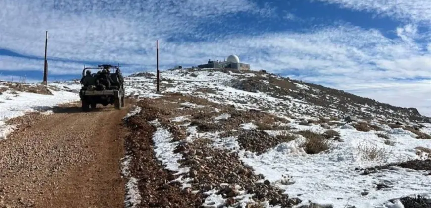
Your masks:
{"label": "brown gravel dirt road behind the military truck", "polygon": [[16,119],[19,130],[0,141],[0,208],[120,208],[124,182],[122,110],[77,104],[51,115]]}

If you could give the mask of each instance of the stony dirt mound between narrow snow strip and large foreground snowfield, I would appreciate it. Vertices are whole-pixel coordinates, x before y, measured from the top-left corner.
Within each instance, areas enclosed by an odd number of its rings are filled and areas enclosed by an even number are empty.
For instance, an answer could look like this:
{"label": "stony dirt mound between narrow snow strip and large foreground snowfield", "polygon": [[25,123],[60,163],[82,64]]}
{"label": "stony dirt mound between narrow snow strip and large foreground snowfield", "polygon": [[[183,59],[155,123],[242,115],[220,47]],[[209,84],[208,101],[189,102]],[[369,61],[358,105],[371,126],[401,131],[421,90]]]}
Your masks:
{"label": "stony dirt mound between narrow snow strip and large foreground snowfield", "polygon": [[[245,166],[239,160],[237,153],[216,150],[208,146],[209,143],[211,141],[199,139],[192,144],[184,145],[185,159],[182,164],[190,167],[190,176],[195,182],[194,189],[206,192],[216,188],[219,190],[217,194],[221,194],[226,199],[225,206],[237,205],[238,201],[235,197],[239,195],[239,191],[247,191],[248,194],[254,194],[252,198],[255,201],[268,200],[269,204],[274,206],[291,208],[301,203],[300,199],[283,194],[283,190],[273,186],[268,180],[256,183],[264,179],[263,175],[254,174],[252,168]],[[230,185],[221,185],[223,183]]]}

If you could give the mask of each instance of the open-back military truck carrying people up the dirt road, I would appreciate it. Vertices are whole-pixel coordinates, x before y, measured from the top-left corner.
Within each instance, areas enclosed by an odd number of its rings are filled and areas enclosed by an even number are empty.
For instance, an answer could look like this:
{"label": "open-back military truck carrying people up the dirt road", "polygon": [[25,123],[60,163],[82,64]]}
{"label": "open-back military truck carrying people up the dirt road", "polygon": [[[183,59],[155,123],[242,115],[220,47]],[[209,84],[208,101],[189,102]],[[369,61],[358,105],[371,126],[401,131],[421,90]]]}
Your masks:
{"label": "open-back military truck carrying people up the dirt road", "polygon": [[[90,69],[99,70],[98,73],[86,72]],[[110,69],[115,69],[115,72],[109,72]],[[97,84],[100,83],[100,72],[108,71],[106,74],[111,78],[109,88],[103,87],[103,89],[98,89]],[[105,76],[106,76],[105,75]],[[119,110],[124,107],[124,85],[123,76],[121,74],[119,66],[112,66],[108,64],[98,65],[98,67],[86,67],[82,70],[81,79],[81,90],[79,91],[79,97],[81,98],[82,110],[87,112],[90,111],[90,106],[92,109],[96,108],[97,104],[102,104],[107,106],[113,104],[115,109]]]}

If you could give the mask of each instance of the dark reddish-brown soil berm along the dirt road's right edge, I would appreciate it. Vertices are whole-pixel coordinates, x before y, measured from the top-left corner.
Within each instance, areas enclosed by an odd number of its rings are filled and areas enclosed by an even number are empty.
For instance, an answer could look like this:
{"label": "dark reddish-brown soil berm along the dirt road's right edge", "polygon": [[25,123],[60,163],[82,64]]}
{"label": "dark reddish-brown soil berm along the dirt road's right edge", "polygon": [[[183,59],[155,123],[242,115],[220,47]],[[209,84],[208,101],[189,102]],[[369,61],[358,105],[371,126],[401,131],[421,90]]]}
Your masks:
{"label": "dark reddish-brown soil berm along the dirt road's right edge", "polygon": [[203,197],[200,194],[190,193],[190,189],[181,190],[179,184],[169,184],[169,181],[178,176],[173,176],[172,172],[165,170],[164,166],[154,157],[152,136],[156,128],[148,121],[157,118],[162,126],[168,122],[162,118],[163,111],[151,108],[146,104],[141,101],[139,105],[143,107],[142,113],[132,116],[126,123],[129,132],[133,132],[127,135],[125,141],[127,152],[132,156],[131,176],[138,179],[138,188],[142,198],[137,207],[200,207]]}

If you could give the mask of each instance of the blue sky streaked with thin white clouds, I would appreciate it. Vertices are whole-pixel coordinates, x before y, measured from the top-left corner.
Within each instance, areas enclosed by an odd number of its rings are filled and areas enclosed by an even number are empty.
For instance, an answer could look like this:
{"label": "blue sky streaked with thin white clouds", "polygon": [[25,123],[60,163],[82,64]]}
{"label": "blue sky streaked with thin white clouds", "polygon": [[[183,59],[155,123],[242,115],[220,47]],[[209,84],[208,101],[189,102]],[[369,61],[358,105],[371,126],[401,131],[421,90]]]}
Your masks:
{"label": "blue sky streaked with thin white clouds", "polygon": [[428,0],[1,0],[0,79],[49,80],[85,65],[125,74],[237,54],[252,69],[431,116]]}

